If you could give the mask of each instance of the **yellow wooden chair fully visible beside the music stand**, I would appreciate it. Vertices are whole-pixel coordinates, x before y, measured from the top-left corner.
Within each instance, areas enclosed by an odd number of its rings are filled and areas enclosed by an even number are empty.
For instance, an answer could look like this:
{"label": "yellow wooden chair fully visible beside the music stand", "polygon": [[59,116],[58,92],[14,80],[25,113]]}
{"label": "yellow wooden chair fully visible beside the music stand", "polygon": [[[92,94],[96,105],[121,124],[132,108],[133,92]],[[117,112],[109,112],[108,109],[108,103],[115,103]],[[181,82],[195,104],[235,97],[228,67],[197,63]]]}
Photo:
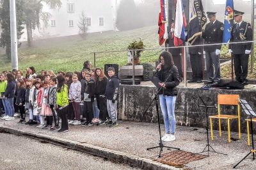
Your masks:
{"label": "yellow wooden chair fully visible beside the music stand", "polygon": [[[212,130],[212,119],[219,120],[219,134],[221,137],[221,120],[228,121],[228,143],[230,143],[230,120],[237,119],[238,121],[238,134],[239,139],[241,139],[241,127],[240,127],[240,105],[239,105],[239,95],[218,95],[218,114],[214,116],[209,116],[211,123],[211,137],[213,140],[213,130]],[[237,105],[237,115],[221,114],[220,105]]]}

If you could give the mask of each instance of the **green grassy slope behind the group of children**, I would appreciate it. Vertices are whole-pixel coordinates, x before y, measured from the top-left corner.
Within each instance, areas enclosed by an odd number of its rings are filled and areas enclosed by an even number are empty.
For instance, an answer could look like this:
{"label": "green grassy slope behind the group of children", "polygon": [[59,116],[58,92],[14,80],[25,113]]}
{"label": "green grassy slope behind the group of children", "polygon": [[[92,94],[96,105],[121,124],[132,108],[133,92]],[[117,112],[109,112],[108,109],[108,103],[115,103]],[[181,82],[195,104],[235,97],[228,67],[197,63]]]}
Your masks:
{"label": "green grassy slope behind the group of children", "polygon": [[[33,47],[22,44],[19,49],[19,69],[25,70],[35,66],[36,70],[53,70],[54,72],[74,72],[83,68],[83,62],[93,63],[93,52],[108,50],[126,50],[133,40],[143,40],[147,49],[159,48],[157,27],[144,27],[132,31],[108,31],[88,34],[85,40],[79,36],[38,40]],[[140,61],[154,62],[159,56],[159,50],[144,51]],[[158,53],[157,53],[158,52]],[[157,54],[156,54],[157,53]],[[11,63],[0,52],[0,71],[12,70]],[[156,54],[151,56],[152,54]],[[150,57],[147,57],[150,56]],[[2,62],[3,61],[3,62]],[[120,66],[127,64],[127,52],[100,53],[96,56],[96,65],[101,68],[106,63],[116,63]]]}

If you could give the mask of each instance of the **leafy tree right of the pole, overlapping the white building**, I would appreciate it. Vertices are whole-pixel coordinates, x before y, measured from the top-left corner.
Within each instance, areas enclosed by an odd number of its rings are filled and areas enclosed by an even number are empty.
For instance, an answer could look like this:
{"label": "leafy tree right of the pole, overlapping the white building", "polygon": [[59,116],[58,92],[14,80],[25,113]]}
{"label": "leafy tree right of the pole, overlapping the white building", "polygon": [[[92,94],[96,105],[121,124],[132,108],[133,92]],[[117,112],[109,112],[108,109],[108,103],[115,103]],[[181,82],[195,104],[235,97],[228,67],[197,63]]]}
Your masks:
{"label": "leafy tree right of the pole, overlapping the white building", "polygon": [[36,27],[40,29],[40,19],[42,19],[44,25],[47,26],[47,22],[51,17],[50,13],[42,11],[43,3],[49,5],[52,9],[61,7],[61,0],[24,0],[24,15],[29,47],[31,47],[33,41],[33,30],[35,30]]}

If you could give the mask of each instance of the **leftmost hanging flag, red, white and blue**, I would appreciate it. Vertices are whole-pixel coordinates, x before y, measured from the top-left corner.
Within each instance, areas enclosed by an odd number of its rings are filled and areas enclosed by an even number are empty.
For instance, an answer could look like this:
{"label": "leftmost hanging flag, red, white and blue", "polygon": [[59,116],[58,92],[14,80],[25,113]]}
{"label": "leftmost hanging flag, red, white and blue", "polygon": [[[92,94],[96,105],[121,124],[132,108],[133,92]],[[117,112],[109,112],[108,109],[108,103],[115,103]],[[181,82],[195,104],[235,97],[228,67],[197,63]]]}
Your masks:
{"label": "leftmost hanging flag, red, white and blue", "polygon": [[165,40],[168,38],[165,1],[166,0],[160,0],[160,12],[158,18],[159,45],[163,45]]}

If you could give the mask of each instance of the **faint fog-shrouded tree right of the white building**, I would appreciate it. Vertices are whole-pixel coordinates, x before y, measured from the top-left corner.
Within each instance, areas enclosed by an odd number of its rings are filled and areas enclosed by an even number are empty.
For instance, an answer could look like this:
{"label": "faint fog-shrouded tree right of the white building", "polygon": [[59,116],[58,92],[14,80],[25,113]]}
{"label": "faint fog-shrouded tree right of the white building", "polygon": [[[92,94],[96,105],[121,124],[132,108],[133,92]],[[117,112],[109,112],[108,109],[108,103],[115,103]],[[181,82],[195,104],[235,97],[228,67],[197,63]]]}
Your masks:
{"label": "faint fog-shrouded tree right of the white building", "polygon": [[137,10],[134,0],[122,0],[119,4],[116,25],[121,31],[140,27],[140,12]]}

